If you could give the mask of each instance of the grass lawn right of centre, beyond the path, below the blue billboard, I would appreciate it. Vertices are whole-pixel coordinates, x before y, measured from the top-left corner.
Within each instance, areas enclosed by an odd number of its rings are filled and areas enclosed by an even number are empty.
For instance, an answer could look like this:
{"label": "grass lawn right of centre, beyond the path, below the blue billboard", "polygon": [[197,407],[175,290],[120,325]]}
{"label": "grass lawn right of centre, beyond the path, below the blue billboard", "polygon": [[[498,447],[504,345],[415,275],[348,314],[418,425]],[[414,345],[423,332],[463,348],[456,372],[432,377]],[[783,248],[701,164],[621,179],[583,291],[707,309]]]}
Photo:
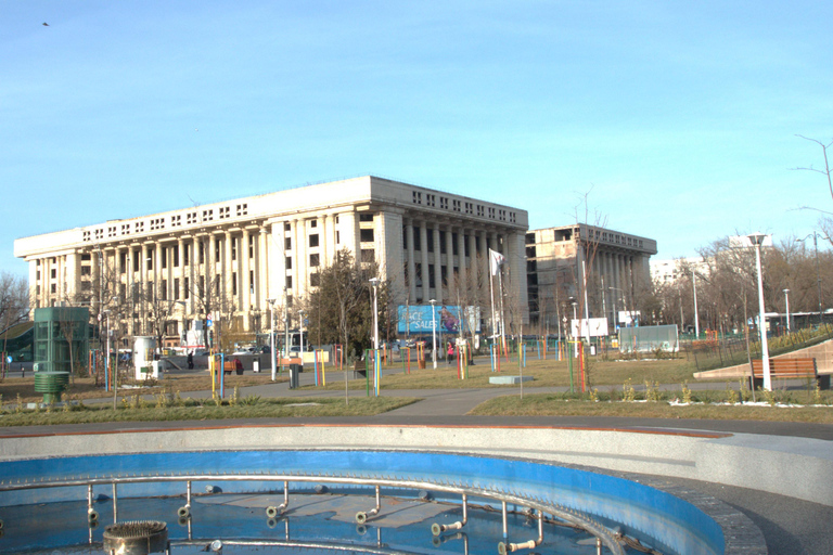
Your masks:
{"label": "grass lawn right of centre, beyond the path, below the blue billboard", "polygon": [[[411,373],[403,374],[401,365],[386,366],[390,370],[399,370],[395,374],[382,376],[382,389],[471,389],[482,387],[516,387],[489,384],[489,377],[495,375],[517,375],[517,359],[509,363],[501,362],[500,373],[491,372],[488,359],[478,360],[473,366],[469,366],[469,378],[459,379],[454,366],[447,366],[445,361],[437,361],[437,370],[431,369],[431,362],[426,370],[418,370],[416,363],[411,363]],[[534,382],[527,382],[524,387],[558,387],[569,386],[569,369],[567,362],[555,360],[538,360],[527,358],[526,367],[522,370],[525,376],[533,376]],[[645,380],[659,384],[681,384],[684,380],[693,382],[693,373],[696,371],[693,363],[684,359],[671,360],[641,360],[641,361],[600,361],[590,360],[588,372],[589,383],[594,387],[619,386],[630,378],[635,384],[643,384]],[[364,389],[364,379],[353,379],[353,370],[348,371],[350,389]],[[573,369],[574,384],[578,386],[578,370]],[[371,377],[372,382],[372,377]],[[309,386],[312,387],[312,386]],[[372,383],[371,383],[372,387]],[[326,389],[344,389],[344,375],[341,371],[326,370]]]}

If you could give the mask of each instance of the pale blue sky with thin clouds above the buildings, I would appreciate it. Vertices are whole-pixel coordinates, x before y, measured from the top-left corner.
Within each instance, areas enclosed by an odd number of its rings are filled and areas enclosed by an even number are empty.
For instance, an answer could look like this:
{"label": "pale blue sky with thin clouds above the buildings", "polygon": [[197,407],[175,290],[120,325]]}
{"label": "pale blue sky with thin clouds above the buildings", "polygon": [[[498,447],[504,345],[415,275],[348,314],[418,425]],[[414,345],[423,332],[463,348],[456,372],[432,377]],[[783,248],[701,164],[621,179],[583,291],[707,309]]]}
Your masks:
{"label": "pale blue sky with thin clouds above the buildings", "polygon": [[[691,256],[833,211],[831,2],[0,0],[16,237],[377,175]],[[43,26],[42,23],[49,23]],[[584,218],[584,211],[579,215]],[[590,216],[590,220],[594,217]]]}

